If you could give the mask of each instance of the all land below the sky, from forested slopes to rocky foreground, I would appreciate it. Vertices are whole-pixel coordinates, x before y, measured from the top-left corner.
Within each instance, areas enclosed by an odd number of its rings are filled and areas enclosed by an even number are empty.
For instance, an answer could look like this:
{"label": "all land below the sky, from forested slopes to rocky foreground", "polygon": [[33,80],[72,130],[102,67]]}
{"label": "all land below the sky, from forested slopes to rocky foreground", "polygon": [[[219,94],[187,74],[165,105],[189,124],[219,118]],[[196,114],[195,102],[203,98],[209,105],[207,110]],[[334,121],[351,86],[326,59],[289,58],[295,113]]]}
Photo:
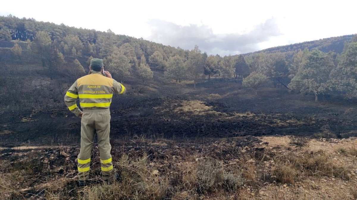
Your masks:
{"label": "all land below the sky, from forested slopes to rocky foreground", "polygon": [[[0,199],[357,198],[357,37],[221,57],[34,19],[0,28]],[[120,181],[99,178],[95,141],[80,188],[81,119],[63,98],[92,57],[127,88],[110,107]]]}

